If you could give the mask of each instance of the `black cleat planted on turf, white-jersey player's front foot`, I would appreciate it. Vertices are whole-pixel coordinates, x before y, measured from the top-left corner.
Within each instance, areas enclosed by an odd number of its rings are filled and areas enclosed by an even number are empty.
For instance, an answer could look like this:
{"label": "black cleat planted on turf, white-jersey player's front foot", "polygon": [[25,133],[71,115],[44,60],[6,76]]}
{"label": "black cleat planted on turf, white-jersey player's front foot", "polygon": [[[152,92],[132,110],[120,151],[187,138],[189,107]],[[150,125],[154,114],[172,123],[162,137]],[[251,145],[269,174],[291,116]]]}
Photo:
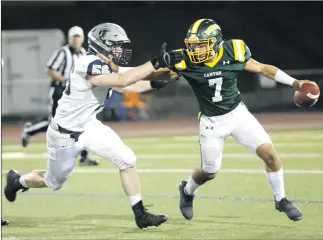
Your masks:
{"label": "black cleat planted on turf, white-jersey player's front foot", "polygon": [[142,201],[132,207],[138,228],[158,227],[167,222],[167,215],[154,215],[147,211],[142,205]]}

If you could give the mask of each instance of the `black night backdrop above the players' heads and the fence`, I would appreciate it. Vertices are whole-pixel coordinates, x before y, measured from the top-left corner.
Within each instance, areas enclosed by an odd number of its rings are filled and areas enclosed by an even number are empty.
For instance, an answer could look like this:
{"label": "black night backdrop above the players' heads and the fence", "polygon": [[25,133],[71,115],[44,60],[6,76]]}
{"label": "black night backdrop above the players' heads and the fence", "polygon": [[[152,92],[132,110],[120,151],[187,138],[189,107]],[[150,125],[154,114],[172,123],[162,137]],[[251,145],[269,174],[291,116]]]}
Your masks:
{"label": "black night backdrop above the players' heads and the fence", "polygon": [[258,61],[283,69],[323,67],[323,2],[2,2],[2,30],[73,25],[87,33],[102,22],[121,25],[132,40],[133,64],[184,46],[196,19],[213,18],[227,39],[243,39]]}

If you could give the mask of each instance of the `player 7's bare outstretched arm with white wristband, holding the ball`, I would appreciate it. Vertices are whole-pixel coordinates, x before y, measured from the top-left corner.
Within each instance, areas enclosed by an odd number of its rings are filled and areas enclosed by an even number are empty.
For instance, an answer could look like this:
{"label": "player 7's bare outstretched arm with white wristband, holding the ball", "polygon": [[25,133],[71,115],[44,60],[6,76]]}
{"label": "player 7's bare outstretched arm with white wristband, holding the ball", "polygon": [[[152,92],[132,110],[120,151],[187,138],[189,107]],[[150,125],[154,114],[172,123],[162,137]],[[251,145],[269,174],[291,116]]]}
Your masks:
{"label": "player 7's bare outstretched arm with white wristband, holding the ball", "polygon": [[259,73],[275,80],[276,82],[292,86],[295,89],[300,88],[304,82],[311,82],[309,80],[297,80],[275,66],[259,63],[252,58],[248,60],[244,69],[248,72]]}

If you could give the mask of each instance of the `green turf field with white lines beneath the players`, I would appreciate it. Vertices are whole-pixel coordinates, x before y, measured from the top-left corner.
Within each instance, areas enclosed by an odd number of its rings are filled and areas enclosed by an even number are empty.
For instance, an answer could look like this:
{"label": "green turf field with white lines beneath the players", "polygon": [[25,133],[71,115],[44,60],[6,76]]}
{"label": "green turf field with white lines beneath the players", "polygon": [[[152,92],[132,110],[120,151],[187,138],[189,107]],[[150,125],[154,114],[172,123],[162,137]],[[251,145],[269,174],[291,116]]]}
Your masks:
{"label": "green turf field with white lines beneath the players", "polygon": [[[185,220],[177,185],[200,164],[197,136],[155,136],[124,140],[138,156],[144,202],[168,214],[165,225],[137,229],[118,173],[101,159],[100,167],[77,166],[57,192],[32,189],[15,203],[2,198],[2,215],[10,221],[3,239],[323,239],[323,130],[270,135],[283,159],[287,196],[298,201],[303,221],[274,210],[263,163],[232,139],[222,173],[199,189],[195,216]],[[28,149],[3,143],[2,151],[3,171],[46,167],[45,143]]]}

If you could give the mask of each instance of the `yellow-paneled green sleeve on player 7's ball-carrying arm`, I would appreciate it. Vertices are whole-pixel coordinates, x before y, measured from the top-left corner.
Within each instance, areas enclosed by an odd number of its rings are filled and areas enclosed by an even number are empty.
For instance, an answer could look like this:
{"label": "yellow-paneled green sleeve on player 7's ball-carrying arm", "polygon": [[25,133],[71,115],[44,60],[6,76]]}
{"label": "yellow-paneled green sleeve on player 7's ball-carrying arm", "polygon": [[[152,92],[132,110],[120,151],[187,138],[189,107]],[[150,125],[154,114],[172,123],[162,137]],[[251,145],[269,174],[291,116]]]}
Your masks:
{"label": "yellow-paneled green sleeve on player 7's ball-carrying arm", "polygon": [[245,68],[248,60],[251,58],[249,47],[243,40],[232,39],[227,41],[227,52],[234,62],[234,70],[241,71]]}

